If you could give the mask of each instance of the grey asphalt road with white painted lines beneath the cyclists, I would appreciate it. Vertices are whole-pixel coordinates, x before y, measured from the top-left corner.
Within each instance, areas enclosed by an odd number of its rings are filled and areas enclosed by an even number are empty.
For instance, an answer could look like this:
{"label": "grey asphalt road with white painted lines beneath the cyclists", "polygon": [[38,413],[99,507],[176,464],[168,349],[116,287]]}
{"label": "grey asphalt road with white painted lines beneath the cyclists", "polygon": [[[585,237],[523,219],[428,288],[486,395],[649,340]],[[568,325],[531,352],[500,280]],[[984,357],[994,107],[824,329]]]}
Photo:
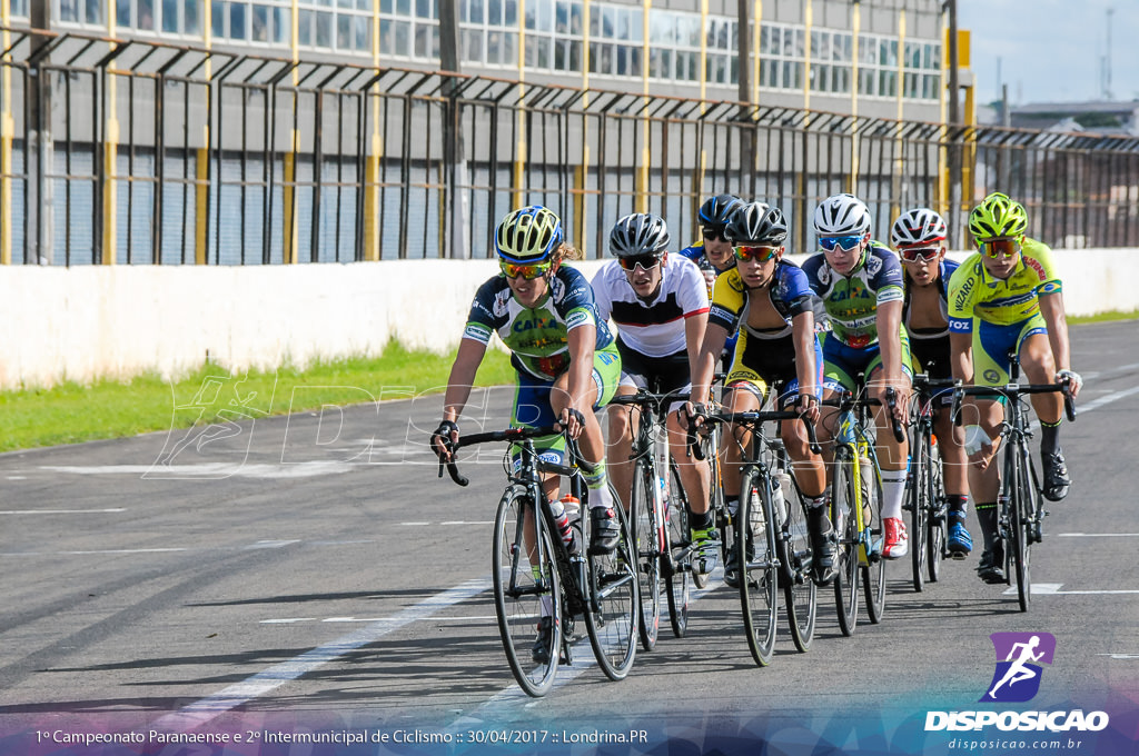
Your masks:
{"label": "grey asphalt road with white painted lines beneath the cyclists", "polygon": [[[538,701],[511,684],[489,590],[499,458],[467,465],[468,488],[436,478],[426,437],[439,395],[263,418],[239,386],[206,386],[196,403],[230,406],[233,424],[0,455],[0,722],[665,731],[683,721],[735,732],[762,715],[763,726],[829,728],[842,742],[843,726],[861,725],[836,723],[867,712],[973,707],[998,631],[1056,636],[1034,705],[1134,704],[1133,339],[1134,322],[1072,329],[1087,379],[1063,432],[1075,485],[1050,506],[1033,551],[1029,614],[976,578],[976,552],[924,593],[907,559],[887,573],[880,625],[863,610],[842,638],[820,592],[810,652],[781,627],[761,669],[737,594],[713,583],[690,608],[689,635],[663,627],[629,679],[607,681],[587,647]],[[505,427],[508,402],[503,389],[476,393],[465,430]]]}

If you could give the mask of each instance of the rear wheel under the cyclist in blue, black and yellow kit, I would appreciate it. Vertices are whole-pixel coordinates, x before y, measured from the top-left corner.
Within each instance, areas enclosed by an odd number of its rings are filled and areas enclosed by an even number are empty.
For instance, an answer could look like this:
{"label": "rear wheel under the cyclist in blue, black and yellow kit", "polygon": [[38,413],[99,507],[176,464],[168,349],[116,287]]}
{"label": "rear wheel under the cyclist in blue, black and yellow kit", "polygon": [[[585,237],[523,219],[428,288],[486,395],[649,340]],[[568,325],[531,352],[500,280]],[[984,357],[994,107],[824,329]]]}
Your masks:
{"label": "rear wheel under the cyclist in blue, black and yellow kit", "polygon": [[814,639],[819,590],[811,578],[811,540],[803,494],[794,478],[788,488],[784,491],[787,511],[778,532],[779,582],[792,642],[805,654]]}

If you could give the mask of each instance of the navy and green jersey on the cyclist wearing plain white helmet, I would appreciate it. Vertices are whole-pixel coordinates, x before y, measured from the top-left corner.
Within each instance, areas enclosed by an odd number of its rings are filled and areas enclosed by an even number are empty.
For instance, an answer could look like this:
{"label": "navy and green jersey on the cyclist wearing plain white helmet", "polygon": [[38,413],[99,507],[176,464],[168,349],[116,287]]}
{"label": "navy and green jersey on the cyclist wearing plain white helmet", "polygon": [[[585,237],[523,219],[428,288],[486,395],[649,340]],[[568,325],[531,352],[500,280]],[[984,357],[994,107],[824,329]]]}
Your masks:
{"label": "navy and green jersey on the cyclist wearing plain white helmet", "polygon": [[822,299],[831,335],[851,348],[877,344],[878,307],[904,298],[902,263],[880,241],[870,241],[866,263],[850,276],[835,272],[821,252],[806,258],[803,272]]}

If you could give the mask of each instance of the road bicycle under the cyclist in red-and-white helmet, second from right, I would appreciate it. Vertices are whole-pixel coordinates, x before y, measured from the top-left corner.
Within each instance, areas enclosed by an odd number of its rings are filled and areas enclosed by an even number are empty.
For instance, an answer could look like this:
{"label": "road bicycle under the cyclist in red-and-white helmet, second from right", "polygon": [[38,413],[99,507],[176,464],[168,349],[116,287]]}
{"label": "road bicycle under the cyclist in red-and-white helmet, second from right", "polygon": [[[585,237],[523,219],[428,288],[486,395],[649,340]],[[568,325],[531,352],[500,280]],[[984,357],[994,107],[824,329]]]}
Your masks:
{"label": "road bicycle under the cyclist in red-and-white helmet, second from right", "polygon": [[[910,513],[910,562],[913,567],[913,590],[925,589],[926,576],[936,583],[945,549],[945,491],[942,485],[942,460],[937,437],[933,432],[935,408],[956,386],[951,378],[913,376],[913,404],[910,409],[910,474],[906,485],[903,509]],[[965,554],[957,557],[965,558]]]}

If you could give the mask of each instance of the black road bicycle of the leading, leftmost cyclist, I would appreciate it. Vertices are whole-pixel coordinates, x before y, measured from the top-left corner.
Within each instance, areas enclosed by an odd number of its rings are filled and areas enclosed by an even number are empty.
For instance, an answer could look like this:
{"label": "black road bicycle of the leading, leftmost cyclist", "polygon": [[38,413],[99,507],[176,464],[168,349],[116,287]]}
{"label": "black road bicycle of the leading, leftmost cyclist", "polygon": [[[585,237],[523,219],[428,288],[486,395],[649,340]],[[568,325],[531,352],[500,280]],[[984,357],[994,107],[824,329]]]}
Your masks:
{"label": "black road bicycle of the leading, leftmost cyclist", "polygon": [[[582,476],[587,462],[575,441],[562,434],[566,444],[566,463],[542,459],[534,438],[558,435],[557,426],[543,428],[507,428],[470,434],[450,444],[454,452],[487,442],[507,442],[511,446],[503,458],[509,483],[499,500],[494,516],[492,578],[494,610],[498,615],[502,648],[518,685],[530,696],[546,695],[554,684],[560,663],[572,664],[571,642],[579,618],[584,619],[597,664],[611,680],[622,680],[637,655],[637,627],[640,598],[637,582],[637,556],[629,524],[620,506],[614,507],[621,535],[611,554],[583,553],[589,542],[581,517],[574,525],[577,548],[571,549],[558,529],[558,523],[542,490],[542,475],[568,478],[570,492],[587,511],[589,488]],[[440,476],[444,463],[440,462]],[[467,478],[459,474],[454,461],[446,470],[457,484]],[[612,485],[611,485],[612,492]],[[614,493],[614,501],[620,501]],[[535,517],[534,513],[540,512]],[[535,649],[538,624],[552,618],[551,638],[546,658]]]}

